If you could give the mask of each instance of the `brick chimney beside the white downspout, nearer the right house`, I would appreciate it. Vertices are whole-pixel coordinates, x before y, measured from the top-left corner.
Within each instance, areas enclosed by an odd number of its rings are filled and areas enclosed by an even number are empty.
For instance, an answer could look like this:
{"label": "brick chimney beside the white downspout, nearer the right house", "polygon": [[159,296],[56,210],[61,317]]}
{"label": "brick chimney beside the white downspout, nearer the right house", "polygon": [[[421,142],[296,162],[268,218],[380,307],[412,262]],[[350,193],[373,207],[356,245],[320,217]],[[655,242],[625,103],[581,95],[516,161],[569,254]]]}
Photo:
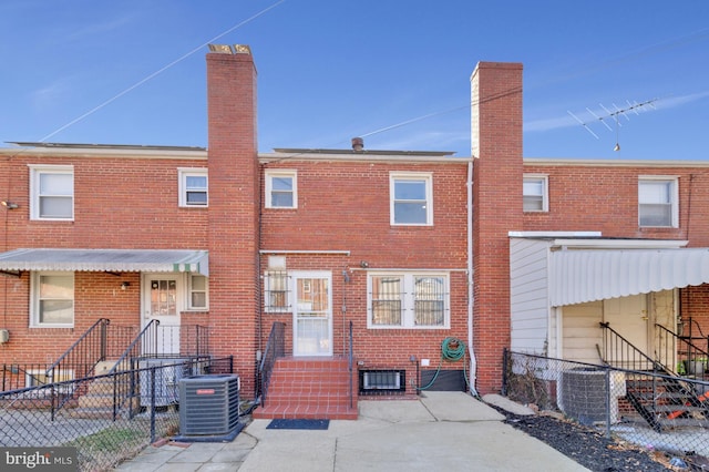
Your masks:
{"label": "brick chimney beside the white downspout, nearer the right house", "polygon": [[[471,76],[474,349],[480,393],[499,392],[510,347],[510,239],[522,229],[522,64],[480,62]],[[506,255],[506,256],[505,256]]]}

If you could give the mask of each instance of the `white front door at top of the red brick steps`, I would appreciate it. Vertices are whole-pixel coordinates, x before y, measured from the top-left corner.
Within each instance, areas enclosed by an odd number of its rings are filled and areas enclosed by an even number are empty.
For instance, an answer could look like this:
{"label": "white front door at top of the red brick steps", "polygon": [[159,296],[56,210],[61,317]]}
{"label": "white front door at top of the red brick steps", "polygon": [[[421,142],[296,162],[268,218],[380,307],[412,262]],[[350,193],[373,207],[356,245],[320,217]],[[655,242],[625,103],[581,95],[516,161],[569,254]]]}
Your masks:
{"label": "white front door at top of the red brick steps", "polygon": [[330,273],[294,275],[294,356],[332,355]]}

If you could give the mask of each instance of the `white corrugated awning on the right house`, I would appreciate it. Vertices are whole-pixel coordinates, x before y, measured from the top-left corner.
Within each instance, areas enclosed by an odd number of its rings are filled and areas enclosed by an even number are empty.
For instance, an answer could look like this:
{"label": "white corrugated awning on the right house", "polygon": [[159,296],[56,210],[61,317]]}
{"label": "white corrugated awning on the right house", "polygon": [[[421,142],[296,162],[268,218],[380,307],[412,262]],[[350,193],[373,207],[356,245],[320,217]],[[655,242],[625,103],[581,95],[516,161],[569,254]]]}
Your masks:
{"label": "white corrugated awning on the right house", "polygon": [[549,255],[554,307],[709,283],[709,248],[569,249]]}

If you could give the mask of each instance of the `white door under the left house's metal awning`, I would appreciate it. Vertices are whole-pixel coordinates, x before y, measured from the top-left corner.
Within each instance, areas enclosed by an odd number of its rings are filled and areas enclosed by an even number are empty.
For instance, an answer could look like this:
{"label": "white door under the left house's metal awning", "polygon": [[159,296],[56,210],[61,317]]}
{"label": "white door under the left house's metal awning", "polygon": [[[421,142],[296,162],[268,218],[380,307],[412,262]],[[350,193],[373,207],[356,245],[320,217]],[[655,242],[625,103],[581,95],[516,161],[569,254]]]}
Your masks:
{"label": "white door under the left house's metal awning", "polygon": [[146,332],[144,355],[179,353],[179,312],[182,297],[179,278],[172,275],[147,275],[143,285],[145,325],[152,320],[160,325]]}

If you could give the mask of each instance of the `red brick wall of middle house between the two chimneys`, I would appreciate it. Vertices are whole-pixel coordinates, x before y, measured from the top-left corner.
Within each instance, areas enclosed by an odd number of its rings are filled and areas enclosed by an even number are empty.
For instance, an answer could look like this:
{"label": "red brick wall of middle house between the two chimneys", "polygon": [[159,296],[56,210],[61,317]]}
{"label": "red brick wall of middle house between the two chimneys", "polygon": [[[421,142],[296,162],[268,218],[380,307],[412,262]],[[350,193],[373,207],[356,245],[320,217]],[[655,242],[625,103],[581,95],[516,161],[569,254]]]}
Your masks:
{"label": "red brick wall of middle house between the two chimneys", "polygon": [[[335,353],[345,353],[349,321],[353,324],[354,356],[363,369],[405,369],[408,390],[414,391],[417,359],[430,359],[436,368],[446,337],[467,342],[466,294],[466,161],[427,164],[372,163],[352,156],[351,162],[304,162],[294,158],[267,168],[298,172],[298,208],[263,208],[264,270],[268,249],[322,252],[286,254],[287,269],[332,273]],[[433,226],[391,226],[390,172],[430,172],[433,175]],[[347,254],[325,254],[328,250]],[[367,270],[451,269],[450,329],[368,329]],[[345,283],[342,270],[350,277]],[[341,308],[346,306],[343,314]],[[292,315],[264,314],[261,342],[274,321],[286,324],[287,352],[292,349]],[[462,370],[463,362],[443,369]]]}

